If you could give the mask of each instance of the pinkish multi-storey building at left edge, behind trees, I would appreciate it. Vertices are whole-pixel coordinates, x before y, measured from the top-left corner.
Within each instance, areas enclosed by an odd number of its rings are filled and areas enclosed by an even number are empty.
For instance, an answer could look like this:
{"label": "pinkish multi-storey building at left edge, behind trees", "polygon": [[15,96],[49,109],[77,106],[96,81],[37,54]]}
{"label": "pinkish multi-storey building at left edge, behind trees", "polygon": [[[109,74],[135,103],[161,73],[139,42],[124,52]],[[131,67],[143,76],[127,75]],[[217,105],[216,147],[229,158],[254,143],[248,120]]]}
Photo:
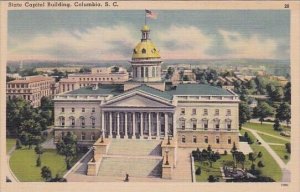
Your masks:
{"label": "pinkish multi-storey building at left edge, behind trees", "polygon": [[22,77],[6,83],[7,99],[22,97],[30,101],[33,107],[41,105],[43,96],[49,97],[57,93],[55,79],[42,75]]}

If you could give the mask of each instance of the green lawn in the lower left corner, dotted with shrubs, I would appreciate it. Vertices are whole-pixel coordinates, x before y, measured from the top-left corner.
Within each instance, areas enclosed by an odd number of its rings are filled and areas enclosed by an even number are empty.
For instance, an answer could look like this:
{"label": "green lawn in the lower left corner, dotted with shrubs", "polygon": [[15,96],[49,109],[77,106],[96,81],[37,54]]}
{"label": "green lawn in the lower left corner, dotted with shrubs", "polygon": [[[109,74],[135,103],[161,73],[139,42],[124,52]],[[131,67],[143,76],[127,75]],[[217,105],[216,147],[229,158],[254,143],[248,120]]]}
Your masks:
{"label": "green lawn in the lower left corner, dotted with shrubs", "polygon": [[[78,155],[73,164],[82,156]],[[41,178],[41,167],[48,166],[52,172],[52,177],[56,174],[63,175],[66,172],[64,156],[58,155],[55,149],[46,149],[41,156],[42,166],[36,167],[37,155],[34,149],[19,149],[13,152],[9,164],[20,181],[43,181]]]}

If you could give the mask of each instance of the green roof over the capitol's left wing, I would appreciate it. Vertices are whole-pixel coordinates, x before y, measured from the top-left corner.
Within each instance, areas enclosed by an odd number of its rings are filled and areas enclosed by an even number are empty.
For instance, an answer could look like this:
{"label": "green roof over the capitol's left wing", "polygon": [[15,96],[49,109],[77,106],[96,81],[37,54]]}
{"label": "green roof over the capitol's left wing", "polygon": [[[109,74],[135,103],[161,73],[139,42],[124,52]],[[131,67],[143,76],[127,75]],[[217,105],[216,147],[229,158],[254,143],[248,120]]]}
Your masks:
{"label": "green roof over the capitol's left wing", "polygon": [[119,95],[123,93],[123,85],[110,84],[100,85],[98,89],[93,90],[92,87],[82,87],[74,91],[65,93],[64,95]]}

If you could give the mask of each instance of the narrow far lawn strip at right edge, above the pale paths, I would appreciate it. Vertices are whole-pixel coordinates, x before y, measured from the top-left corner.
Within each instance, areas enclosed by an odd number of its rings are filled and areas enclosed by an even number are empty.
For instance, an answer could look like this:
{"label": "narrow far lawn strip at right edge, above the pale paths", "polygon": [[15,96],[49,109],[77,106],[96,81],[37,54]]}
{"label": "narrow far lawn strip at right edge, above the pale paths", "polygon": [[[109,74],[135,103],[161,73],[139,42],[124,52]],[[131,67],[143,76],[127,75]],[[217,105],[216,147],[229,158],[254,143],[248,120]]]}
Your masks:
{"label": "narrow far lawn strip at right edge, above the pale paths", "polygon": [[[288,128],[287,126],[285,126],[285,125],[281,125],[281,126],[283,128],[283,131],[291,131],[291,129]],[[243,125],[243,127],[253,129],[253,130],[256,130],[256,131],[265,132],[265,133],[268,133],[268,134],[271,134],[271,135],[274,135],[274,136],[279,136],[283,139],[290,140],[289,137],[285,137],[285,136],[280,135],[279,131],[274,131],[272,124],[264,124],[264,123],[260,124],[260,123],[249,123],[248,122],[248,123],[245,123]]]}

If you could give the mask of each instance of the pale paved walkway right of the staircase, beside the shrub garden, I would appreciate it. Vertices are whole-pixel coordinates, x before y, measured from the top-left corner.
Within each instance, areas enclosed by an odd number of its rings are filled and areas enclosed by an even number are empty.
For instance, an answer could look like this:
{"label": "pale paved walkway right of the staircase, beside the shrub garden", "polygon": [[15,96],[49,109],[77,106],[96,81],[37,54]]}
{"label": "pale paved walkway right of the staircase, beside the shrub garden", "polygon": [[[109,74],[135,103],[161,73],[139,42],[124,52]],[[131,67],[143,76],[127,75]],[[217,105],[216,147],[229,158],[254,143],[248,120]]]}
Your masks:
{"label": "pale paved walkway right of the staircase, beside the shrub garden", "polygon": [[177,149],[177,165],[173,170],[173,181],[192,182],[191,148]]}

